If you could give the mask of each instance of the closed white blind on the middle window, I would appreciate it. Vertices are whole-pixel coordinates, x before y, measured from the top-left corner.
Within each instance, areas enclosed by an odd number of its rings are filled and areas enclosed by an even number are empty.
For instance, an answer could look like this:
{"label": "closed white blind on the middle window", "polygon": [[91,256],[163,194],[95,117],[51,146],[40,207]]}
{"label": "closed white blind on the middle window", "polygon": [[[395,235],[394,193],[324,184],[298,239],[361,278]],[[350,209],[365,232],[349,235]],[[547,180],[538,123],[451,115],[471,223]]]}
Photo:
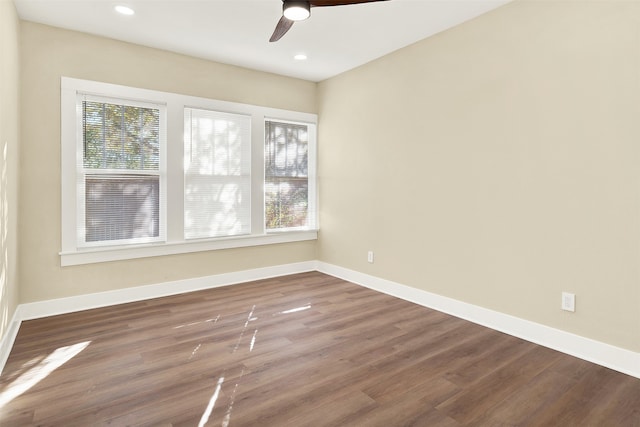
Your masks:
{"label": "closed white blind on the middle window", "polygon": [[251,233],[251,117],[184,111],[185,239]]}

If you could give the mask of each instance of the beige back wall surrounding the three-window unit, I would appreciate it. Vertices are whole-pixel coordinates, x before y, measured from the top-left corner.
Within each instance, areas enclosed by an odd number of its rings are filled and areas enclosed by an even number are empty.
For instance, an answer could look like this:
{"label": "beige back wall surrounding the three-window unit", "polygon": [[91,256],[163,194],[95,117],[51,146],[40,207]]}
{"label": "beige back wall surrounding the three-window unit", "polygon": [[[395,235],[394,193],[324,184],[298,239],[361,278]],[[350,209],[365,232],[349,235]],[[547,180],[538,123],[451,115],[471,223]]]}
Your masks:
{"label": "beige back wall surrounding the three-window unit", "polygon": [[316,258],[316,242],[60,267],[60,77],[316,112],[314,83],[22,23],[20,301]]}

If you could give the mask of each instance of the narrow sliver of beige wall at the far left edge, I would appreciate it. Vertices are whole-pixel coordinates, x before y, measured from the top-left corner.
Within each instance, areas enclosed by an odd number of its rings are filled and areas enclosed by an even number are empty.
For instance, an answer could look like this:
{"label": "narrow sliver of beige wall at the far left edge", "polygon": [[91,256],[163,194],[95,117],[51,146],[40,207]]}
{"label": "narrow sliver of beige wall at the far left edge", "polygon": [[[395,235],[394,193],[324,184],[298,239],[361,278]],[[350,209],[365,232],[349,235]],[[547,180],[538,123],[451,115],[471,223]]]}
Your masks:
{"label": "narrow sliver of beige wall at the far left edge", "polygon": [[20,23],[0,0],[0,338],[18,304],[18,150]]}

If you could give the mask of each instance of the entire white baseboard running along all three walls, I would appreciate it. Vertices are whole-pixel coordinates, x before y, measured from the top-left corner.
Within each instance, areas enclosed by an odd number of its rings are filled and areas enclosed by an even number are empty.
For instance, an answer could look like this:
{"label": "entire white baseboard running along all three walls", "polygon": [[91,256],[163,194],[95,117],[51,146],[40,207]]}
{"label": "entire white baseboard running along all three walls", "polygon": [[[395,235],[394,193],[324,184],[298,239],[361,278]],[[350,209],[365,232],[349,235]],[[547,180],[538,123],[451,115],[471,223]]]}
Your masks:
{"label": "entire white baseboard running along all three walls", "polygon": [[319,271],[329,274],[640,378],[640,353],[320,261],[278,265],[21,304],[16,309],[9,328],[0,341],[0,373],[9,357],[9,353],[18,334],[20,323],[23,320],[142,301],[308,271]]}

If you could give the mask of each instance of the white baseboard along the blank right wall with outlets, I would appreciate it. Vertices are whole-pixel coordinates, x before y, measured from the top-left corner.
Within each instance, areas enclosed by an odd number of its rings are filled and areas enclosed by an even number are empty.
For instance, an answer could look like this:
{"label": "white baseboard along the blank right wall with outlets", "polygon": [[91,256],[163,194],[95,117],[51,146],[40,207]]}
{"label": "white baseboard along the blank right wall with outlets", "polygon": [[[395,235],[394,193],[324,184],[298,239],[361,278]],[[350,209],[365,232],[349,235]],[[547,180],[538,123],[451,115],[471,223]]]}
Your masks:
{"label": "white baseboard along the blank right wall with outlets", "polygon": [[318,271],[640,378],[640,353],[324,262]]}

